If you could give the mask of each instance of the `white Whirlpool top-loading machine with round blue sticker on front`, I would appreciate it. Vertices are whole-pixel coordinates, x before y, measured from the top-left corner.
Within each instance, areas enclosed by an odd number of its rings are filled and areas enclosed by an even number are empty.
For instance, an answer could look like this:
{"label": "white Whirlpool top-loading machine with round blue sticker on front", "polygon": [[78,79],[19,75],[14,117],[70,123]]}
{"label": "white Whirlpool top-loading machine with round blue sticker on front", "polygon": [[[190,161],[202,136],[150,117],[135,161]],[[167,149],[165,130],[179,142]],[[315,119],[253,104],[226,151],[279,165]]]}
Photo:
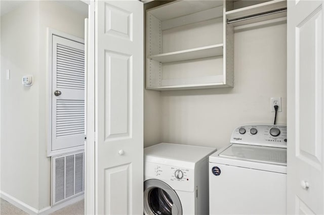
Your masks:
{"label": "white Whirlpool top-loading machine with round blue sticker on front", "polygon": [[237,127],[209,157],[210,214],[286,214],[287,127]]}

